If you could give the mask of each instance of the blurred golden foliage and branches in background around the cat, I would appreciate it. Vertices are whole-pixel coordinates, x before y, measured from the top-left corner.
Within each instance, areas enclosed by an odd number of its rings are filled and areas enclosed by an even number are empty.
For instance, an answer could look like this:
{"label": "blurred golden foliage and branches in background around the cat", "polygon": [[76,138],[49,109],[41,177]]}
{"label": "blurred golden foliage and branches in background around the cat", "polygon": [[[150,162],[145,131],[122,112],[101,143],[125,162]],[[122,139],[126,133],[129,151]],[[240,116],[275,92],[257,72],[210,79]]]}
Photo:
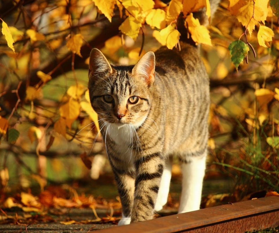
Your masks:
{"label": "blurred golden foliage and branches in background around the cat", "polygon": [[[228,5],[221,2],[208,27],[212,46],[201,46],[211,87],[205,179],[230,180],[227,196],[242,200],[257,190],[278,192],[279,24],[275,15],[265,21],[275,33],[270,47],[258,44],[259,25],[248,35],[257,57],[249,53],[237,72],[228,46],[244,27]],[[99,175],[112,182],[86,92],[90,51],[96,47],[112,63],[133,64],[161,46],[149,25],[136,40],[121,34],[120,13],[116,8],[109,22],[92,0],[0,2],[15,42],[14,53],[0,36],[1,202],[12,190],[42,191],[47,184],[90,182]],[[176,162],[173,174],[179,179]]]}

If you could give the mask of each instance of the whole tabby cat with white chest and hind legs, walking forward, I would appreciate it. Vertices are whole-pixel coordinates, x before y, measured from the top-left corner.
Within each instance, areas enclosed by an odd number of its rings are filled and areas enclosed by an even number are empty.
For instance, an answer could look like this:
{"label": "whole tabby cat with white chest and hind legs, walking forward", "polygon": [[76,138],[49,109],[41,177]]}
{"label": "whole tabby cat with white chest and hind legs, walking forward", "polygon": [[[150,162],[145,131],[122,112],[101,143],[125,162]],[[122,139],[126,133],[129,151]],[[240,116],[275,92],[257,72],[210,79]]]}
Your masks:
{"label": "whole tabby cat with white chest and hind legs, walking forward", "polygon": [[200,208],[209,79],[198,47],[180,47],[147,52],[131,66],[110,64],[98,49],[90,54],[90,101],[121,199],[119,225],[152,219],[167,203],[174,156],[183,174],[178,213]]}

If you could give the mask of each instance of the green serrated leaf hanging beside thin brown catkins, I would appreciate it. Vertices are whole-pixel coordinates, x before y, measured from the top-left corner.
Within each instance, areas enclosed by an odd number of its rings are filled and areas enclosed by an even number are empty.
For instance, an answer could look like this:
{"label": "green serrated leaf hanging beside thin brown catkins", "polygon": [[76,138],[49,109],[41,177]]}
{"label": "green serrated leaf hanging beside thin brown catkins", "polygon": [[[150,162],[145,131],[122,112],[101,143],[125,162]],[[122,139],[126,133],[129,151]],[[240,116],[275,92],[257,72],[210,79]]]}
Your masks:
{"label": "green serrated leaf hanging beside thin brown catkins", "polygon": [[237,70],[239,64],[243,61],[244,57],[248,54],[249,47],[241,40],[232,42],[229,47],[232,63]]}

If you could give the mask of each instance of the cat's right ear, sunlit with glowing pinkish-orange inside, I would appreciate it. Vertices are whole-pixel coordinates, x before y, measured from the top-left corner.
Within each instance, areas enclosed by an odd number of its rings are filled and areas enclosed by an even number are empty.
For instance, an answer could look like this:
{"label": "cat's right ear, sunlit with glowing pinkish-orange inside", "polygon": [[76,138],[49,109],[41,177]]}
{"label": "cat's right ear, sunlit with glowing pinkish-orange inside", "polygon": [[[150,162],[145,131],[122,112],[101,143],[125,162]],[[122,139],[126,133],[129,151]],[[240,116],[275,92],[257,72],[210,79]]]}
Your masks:
{"label": "cat's right ear, sunlit with glowing pinkish-orange inside", "polygon": [[144,77],[148,85],[152,84],[155,80],[155,54],[151,51],[144,54],[135,64],[132,75]]}

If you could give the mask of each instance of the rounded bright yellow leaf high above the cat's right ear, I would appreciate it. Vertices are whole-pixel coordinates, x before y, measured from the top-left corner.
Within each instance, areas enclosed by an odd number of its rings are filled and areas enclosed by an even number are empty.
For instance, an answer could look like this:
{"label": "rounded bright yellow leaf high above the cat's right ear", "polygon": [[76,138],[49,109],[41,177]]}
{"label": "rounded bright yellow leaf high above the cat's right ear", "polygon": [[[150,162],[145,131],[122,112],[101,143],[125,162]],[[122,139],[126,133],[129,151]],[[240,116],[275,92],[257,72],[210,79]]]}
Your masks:
{"label": "rounded bright yellow leaf high above the cat's right ear", "polygon": [[163,29],[166,27],[166,12],[162,9],[152,9],[145,19],[151,28]]}

